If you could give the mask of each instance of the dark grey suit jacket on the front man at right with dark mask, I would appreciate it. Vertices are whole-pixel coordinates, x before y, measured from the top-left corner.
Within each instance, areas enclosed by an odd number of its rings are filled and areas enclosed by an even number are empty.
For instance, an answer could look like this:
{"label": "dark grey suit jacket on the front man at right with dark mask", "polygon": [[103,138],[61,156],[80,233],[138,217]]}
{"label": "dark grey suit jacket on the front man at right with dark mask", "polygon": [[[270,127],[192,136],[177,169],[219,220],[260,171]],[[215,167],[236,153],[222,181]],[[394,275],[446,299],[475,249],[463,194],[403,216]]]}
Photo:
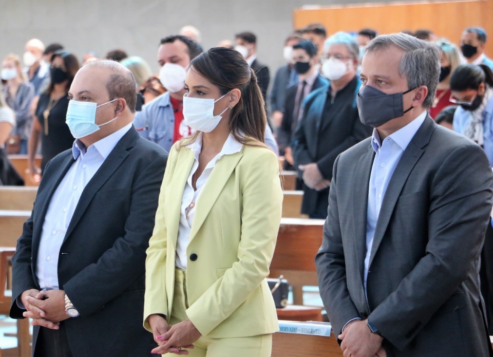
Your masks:
{"label": "dark grey suit jacket on the front man at right with dark mask", "polygon": [[365,298],[374,156],[368,138],[334,164],[323,243],[315,258],[334,332],[354,317],[368,318],[385,337],[389,357],[493,355],[479,292],[493,185],[486,155],[426,118],[389,181]]}

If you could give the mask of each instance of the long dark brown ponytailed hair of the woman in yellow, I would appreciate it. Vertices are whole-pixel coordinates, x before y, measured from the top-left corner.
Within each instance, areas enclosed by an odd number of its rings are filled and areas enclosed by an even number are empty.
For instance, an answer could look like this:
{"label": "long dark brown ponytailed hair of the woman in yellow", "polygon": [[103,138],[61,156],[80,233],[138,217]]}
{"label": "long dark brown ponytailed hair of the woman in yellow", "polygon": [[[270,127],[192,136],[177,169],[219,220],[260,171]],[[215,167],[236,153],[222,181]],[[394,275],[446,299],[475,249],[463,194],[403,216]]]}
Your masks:
{"label": "long dark brown ponytailed hair of the woman in yellow", "polygon": [[[221,95],[238,88],[241,97],[230,116],[231,133],[240,143],[265,146],[267,115],[255,72],[242,55],[231,48],[214,47],[203,52],[190,64],[190,70],[219,87]],[[194,135],[193,142],[197,135]]]}

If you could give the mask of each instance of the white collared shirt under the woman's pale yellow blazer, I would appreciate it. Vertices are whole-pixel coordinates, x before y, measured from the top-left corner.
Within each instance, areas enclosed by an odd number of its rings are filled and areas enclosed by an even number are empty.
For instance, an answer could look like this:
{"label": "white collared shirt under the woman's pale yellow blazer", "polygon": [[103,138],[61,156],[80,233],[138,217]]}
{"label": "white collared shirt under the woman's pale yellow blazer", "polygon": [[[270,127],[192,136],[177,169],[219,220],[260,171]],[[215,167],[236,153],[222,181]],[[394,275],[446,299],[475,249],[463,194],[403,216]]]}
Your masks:
{"label": "white collared shirt under the woman's pale yellow blazer", "polygon": [[[186,248],[188,247],[188,238],[190,237],[190,231],[192,230],[195,210],[197,208],[197,201],[200,198],[200,193],[202,192],[205,183],[211,176],[212,170],[216,163],[224,155],[239,153],[243,147],[243,144],[238,142],[233,134],[230,134],[224,142],[224,145],[222,146],[219,154],[217,154],[211,161],[207,163],[204,171],[202,172],[202,175],[200,175],[200,177],[197,179],[197,182],[195,183],[195,186],[197,188],[196,191],[194,191],[194,187],[192,185],[192,177],[199,167],[199,155],[202,149],[202,134],[199,134],[197,140],[191,144],[188,144],[187,147],[189,147],[194,152],[195,161],[192,165],[192,170],[190,170],[190,174],[188,175],[185,189],[183,191],[183,197],[181,200],[180,224],[178,227],[178,239],[176,242],[176,267],[184,270],[186,270],[187,264]],[[192,202],[195,203],[193,207],[190,208]]]}

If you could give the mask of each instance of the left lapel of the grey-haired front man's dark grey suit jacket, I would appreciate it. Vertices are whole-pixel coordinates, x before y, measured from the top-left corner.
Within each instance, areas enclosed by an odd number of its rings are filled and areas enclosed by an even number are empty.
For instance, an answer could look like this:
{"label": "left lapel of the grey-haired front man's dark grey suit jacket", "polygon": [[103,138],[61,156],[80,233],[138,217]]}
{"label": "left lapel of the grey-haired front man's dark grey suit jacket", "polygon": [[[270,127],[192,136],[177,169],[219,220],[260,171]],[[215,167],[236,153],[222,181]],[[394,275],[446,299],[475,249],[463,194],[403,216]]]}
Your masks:
{"label": "left lapel of the grey-haired front man's dark grey suit jacket", "polygon": [[354,217],[354,244],[356,249],[356,259],[363,286],[364,261],[366,255],[366,221],[368,211],[368,190],[370,186],[371,166],[375,152],[371,145],[368,151],[359,158],[356,166],[353,184],[353,217]]}

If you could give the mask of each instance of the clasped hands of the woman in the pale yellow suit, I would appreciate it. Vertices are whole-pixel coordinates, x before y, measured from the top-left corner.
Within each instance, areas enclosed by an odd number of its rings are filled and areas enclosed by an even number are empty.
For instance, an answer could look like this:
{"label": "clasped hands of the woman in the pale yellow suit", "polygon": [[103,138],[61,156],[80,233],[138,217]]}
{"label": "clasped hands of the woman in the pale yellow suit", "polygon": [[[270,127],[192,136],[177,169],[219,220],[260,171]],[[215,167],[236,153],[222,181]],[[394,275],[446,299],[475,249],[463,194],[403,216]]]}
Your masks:
{"label": "clasped hands of the woman in the pale yellow suit", "polygon": [[194,348],[193,343],[201,336],[191,321],[182,321],[170,328],[162,316],[154,314],[149,316],[149,325],[159,345],[152,353],[188,354],[186,348]]}

